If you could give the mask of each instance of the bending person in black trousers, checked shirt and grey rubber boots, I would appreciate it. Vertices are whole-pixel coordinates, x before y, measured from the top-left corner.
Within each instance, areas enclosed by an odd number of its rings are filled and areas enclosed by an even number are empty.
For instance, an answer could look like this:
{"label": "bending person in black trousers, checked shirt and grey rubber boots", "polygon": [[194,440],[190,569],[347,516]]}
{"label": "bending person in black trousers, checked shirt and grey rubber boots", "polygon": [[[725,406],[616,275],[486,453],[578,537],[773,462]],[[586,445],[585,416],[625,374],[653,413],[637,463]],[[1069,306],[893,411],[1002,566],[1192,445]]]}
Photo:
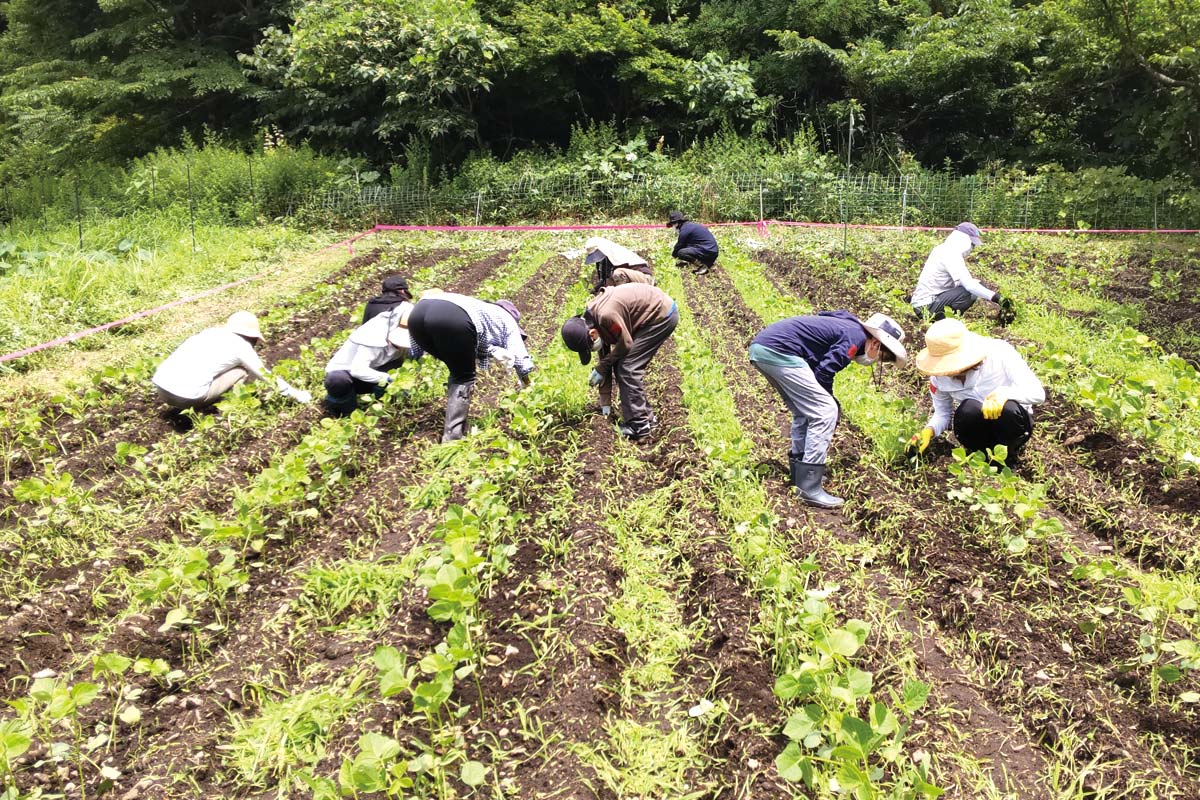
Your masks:
{"label": "bending person in black trousers, checked shirt and grey rubber boots", "polygon": [[426,291],[413,307],[408,319],[413,345],[450,369],[443,443],[467,435],[476,366],[486,369],[494,360],[512,368],[523,386],[529,385],[534,365],[520,320],[521,312],[508,300],[486,302],[436,290]]}

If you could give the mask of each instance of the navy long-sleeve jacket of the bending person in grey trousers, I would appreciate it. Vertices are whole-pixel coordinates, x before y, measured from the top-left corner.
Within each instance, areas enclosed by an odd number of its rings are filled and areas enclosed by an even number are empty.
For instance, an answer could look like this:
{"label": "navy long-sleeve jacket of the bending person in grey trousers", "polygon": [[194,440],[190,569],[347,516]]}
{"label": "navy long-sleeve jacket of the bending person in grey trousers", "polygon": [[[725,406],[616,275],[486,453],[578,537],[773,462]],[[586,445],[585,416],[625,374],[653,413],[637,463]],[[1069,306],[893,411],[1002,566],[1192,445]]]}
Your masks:
{"label": "navy long-sleeve jacket of the bending person in grey trousers", "polygon": [[833,395],[834,375],[866,349],[866,329],[848,311],[822,311],[768,325],[754,344],[804,359],[821,387]]}

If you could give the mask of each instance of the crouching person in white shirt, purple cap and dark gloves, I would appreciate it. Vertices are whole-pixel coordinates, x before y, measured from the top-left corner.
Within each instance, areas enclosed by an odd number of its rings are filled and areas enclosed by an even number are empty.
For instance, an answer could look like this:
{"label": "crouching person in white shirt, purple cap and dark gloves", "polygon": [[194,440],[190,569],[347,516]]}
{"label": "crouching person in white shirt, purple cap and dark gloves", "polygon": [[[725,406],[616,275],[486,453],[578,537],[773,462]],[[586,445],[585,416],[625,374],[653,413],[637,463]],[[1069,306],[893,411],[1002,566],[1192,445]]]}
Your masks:
{"label": "crouching person in white shirt, purple cap and dark gloves", "polygon": [[1001,325],[1013,321],[1013,301],[979,283],[967,269],[966,257],[982,241],[979,228],[960,222],[946,241],[930,251],[912,291],[912,309],[918,319],[944,319],[947,308],[962,314],[979,299],[1000,307]]}

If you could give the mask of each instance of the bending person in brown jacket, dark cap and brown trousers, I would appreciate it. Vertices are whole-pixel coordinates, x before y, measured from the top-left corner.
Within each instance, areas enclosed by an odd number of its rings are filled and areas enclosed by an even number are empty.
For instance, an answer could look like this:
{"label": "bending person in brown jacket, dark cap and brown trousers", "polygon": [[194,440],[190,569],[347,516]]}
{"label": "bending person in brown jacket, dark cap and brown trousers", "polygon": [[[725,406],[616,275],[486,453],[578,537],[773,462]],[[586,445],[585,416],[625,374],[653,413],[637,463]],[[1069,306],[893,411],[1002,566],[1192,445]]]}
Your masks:
{"label": "bending person in brown jacket, dark cap and brown trousers", "polygon": [[601,353],[588,383],[601,387],[601,403],[610,374],[620,387],[620,433],[629,439],[644,439],[658,423],[643,379],[654,354],[678,324],[676,302],[662,289],[644,283],[606,287],[588,301],[582,315],[563,323],[563,343],[580,354],[582,363],[590,363],[592,354]]}

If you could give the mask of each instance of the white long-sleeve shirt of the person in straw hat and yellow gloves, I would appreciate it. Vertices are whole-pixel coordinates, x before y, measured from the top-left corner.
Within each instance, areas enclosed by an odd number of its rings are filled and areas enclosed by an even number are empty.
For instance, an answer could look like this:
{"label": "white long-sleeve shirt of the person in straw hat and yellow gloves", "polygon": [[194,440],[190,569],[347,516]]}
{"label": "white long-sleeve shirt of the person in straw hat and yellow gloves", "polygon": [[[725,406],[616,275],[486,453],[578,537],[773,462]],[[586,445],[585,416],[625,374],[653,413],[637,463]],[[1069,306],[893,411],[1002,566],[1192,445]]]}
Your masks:
{"label": "white long-sleeve shirt of the person in straw hat and yellow gloves", "polygon": [[948,375],[934,375],[929,379],[929,392],[934,396],[934,414],[925,425],[934,429],[934,435],[941,435],[954,420],[954,409],[962,401],[983,402],[996,390],[1003,391],[1007,399],[1016,401],[1026,411],[1044,403],[1046,392],[1042,381],[1025,363],[1025,359],[1008,342],[984,338],[988,355],[978,367],[964,375],[962,380]]}

